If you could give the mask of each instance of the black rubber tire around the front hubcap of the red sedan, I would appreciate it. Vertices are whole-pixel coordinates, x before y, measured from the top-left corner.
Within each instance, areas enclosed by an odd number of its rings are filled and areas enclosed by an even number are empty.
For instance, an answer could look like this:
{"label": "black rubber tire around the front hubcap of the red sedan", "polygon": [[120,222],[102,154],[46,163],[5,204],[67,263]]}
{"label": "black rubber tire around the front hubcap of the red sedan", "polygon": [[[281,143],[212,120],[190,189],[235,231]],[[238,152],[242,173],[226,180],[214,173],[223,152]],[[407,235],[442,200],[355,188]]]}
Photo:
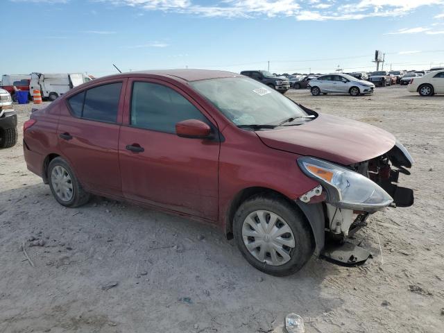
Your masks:
{"label": "black rubber tire around the front hubcap of the red sedan", "polygon": [[[259,262],[244,244],[242,227],[246,217],[256,210],[267,210],[282,217],[291,228],[295,239],[295,247],[290,250],[290,259],[285,264],[273,266]],[[233,221],[234,241],[249,264],[267,274],[285,276],[296,273],[310,259],[314,252],[314,241],[311,229],[304,214],[284,198],[276,195],[257,195],[241,204]]]}

